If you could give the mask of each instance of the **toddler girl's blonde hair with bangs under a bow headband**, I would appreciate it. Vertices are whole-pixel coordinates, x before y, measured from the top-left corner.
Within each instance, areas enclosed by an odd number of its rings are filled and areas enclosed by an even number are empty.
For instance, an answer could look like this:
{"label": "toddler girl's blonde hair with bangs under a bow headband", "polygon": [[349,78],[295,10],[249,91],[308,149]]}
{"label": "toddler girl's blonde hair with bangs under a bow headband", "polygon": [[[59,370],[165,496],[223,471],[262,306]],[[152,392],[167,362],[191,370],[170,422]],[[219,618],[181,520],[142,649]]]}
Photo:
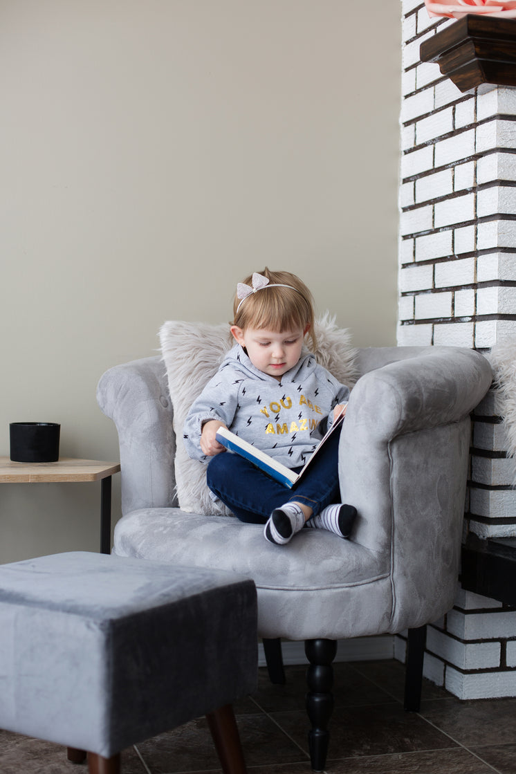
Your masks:
{"label": "toddler girl's blonde hair with bangs under a bow headband", "polygon": [[[314,330],[313,296],[305,283],[291,272],[272,272],[265,266],[258,272],[269,280],[270,285],[290,285],[291,287],[265,286],[257,293],[251,293],[241,304],[235,293],[233,303],[233,325],[246,330],[247,328],[268,328],[282,333],[284,330],[309,326],[308,335],[312,349],[317,346]],[[252,274],[243,280],[245,285],[251,285]]]}

